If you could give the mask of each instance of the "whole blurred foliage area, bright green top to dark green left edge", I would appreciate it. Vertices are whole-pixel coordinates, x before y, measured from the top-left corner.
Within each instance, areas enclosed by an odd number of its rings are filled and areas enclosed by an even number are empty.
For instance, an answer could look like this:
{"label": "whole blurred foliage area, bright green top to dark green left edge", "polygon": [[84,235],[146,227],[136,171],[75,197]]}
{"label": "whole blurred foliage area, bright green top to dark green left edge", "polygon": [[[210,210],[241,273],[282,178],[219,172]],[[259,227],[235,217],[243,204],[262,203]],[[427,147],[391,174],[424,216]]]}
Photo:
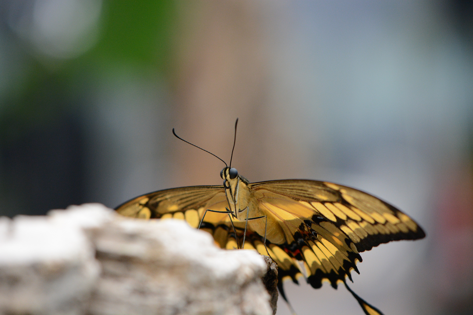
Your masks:
{"label": "whole blurred foliage area, bright green top to dark green left edge", "polygon": [[[172,69],[173,0],[105,0],[96,45],[71,60],[22,51],[23,84],[0,95],[0,145],[81,106],[103,72],[128,68],[166,80]],[[24,46],[18,40],[20,50]]]}

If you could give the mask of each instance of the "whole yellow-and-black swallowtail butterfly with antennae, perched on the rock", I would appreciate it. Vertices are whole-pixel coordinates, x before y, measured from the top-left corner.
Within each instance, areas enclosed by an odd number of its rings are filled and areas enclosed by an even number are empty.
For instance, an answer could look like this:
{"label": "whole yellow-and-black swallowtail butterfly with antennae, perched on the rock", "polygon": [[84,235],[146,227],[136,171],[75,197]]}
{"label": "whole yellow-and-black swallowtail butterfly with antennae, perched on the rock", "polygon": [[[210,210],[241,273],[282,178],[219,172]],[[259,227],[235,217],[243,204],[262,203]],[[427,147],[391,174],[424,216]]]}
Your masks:
{"label": "whole yellow-and-black swallowtail butterfly with antennae, perched on the rock", "polygon": [[[237,123],[238,119],[235,140]],[[187,142],[174,128],[173,134]],[[221,248],[254,249],[270,256],[278,264],[278,289],[286,302],[286,280],[298,283],[305,279],[315,289],[324,281],[335,289],[343,283],[365,314],[382,315],[353,292],[346,279],[352,281],[353,270],[359,273],[360,252],[394,240],[424,238],[415,221],[375,196],[331,182],[284,179],[250,183],[231,167],[232,158],[227,165],[210,154],[226,165],[220,171],[223,185],[159,190],[115,210],[134,218],[185,220],[209,232]]]}

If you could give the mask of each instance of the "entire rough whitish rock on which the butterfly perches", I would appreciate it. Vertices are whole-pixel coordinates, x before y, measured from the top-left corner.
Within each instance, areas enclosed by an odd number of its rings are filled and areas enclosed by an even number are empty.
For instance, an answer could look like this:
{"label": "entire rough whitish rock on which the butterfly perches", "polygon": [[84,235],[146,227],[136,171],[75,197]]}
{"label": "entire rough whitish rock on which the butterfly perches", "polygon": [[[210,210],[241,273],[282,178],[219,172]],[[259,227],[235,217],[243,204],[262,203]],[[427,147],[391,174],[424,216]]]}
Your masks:
{"label": "entire rough whitish rock on which the butterfly perches", "polygon": [[124,218],[100,204],[0,218],[0,315],[269,315],[261,278],[274,305],[271,263],[221,250],[184,221]]}

